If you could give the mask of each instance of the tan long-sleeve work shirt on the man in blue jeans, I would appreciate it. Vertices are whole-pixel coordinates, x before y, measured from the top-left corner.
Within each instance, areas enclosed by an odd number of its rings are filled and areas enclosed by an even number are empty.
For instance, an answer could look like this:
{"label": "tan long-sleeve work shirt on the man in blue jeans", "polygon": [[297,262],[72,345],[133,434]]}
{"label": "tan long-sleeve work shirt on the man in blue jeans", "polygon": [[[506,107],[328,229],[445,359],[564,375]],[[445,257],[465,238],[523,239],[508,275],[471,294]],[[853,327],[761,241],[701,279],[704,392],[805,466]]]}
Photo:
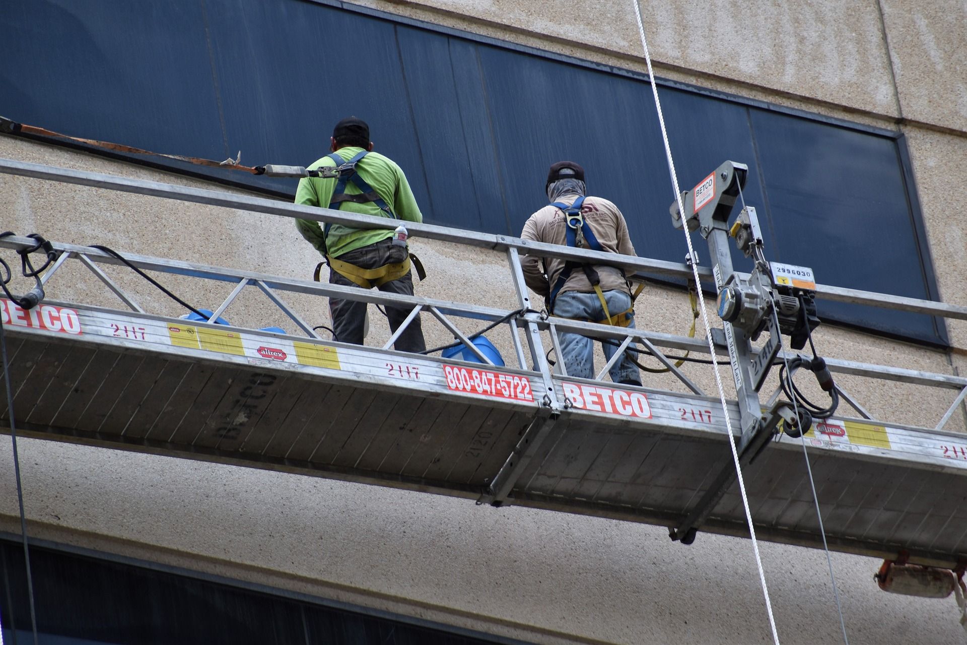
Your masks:
{"label": "tan long-sleeve work shirt on the man in blue jeans", "polygon": [[[577,199],[577,195],[568,194],[563,195],[558,201],[572,204],[575,199]],[[581,205],[581,215],[584,216],[584,225],[591,226],[592,232],[598,238],[601,250],[624,255],[635,254],[628,236],[628,224],[625,222],[625,216],[621,214],[617,206],[607,199],[589,196],[585,197],[584,203]],[[524,230],[520,237],[535,242],[567,246],[567,226],[564,213],[559,208],[547,205],[524,223]],[[565,265],[564,260],[552,257],[546,258],[544,264],[547,269],[547,276],[544,278],[541,258],[537,255],[525,255],[520,258],[520,263],[527,286],[544,298],[557,283]],[[601,291],[612,289],[628,291],[628,283],[620,269],[598,264],[592,266],[598,271],[601,278]],[[571,271],[571,277],[561,287],[561,293],[565,291],[591,293],[594,290],[591,282],[588,281],[584,271],[580,268]]]}

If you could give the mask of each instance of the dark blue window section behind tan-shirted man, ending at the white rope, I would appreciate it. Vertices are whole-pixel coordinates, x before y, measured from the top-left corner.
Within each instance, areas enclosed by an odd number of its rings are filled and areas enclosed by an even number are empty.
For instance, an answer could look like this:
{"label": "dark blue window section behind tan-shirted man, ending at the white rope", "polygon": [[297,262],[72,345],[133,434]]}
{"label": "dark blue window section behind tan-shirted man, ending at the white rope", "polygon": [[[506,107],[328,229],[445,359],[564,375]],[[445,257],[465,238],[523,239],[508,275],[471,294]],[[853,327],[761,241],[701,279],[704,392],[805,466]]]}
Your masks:
{"label": "dark blue window section behind tan-shirted man, ending at the white rope", "polygon": [[[639,254],[659,249],[657,238],[666,229],[667,238],[673,237],[667,204],[659,212],[654,208],[654,195],[670,203],[673,191],[664,155],[655,154],[661,138],[648,85],[478,47],[513,234],[547,203],[547,167],[571,160],[585,167],[590,193],[625,213]],[[677,255],[680,259],[684,251]]]}

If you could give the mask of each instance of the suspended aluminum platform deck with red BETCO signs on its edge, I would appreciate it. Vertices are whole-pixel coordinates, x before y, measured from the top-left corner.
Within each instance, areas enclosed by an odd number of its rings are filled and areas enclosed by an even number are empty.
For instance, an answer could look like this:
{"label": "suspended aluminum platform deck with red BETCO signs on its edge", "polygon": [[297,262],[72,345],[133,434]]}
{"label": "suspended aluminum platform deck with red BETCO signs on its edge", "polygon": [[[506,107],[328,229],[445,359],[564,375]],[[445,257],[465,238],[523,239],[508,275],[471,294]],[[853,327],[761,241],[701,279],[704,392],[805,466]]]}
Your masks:
{"label": "suspended aluminum platform deck with red BETCO signs on its edge", "polygon": [[[558,416],[540,372],[64,303],[0,307],[16,425],[32,436],[666,526],[732,458],[711,397],[555,377],[570,402]],[[831,548],[967,558],[963,435],[834,419],[806,442]],[[798,440],[744,474],[758,537],[822,546]],[[747,534],[734,487],[701,530]]]}

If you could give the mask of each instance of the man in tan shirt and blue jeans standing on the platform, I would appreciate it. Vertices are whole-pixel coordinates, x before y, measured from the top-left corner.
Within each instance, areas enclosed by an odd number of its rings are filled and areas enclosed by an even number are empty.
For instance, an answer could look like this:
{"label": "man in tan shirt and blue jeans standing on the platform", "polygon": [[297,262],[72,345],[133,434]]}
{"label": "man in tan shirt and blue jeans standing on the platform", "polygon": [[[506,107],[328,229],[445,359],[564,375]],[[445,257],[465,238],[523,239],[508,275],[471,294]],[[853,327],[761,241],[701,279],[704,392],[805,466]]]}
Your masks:
{"label": "man in tan shirt and blue jeans standing on the platform", "polygon": [[[618,207],[607,199],[585,195],[584,168],[573,161],[550,166],[544,186],[551,202],[532,215],[520,234],[525,240],[560,244],[577,249],[602,250],[634,255],[628,224]],[[521,259],[527,286],[544,297],[552,315],[634,328],[634,308],[628,280],[621,269],[601,264],[579,264],[556,258],[526,255]],[[617,350],[614,341],[602,342],[610,360]],[[578,334],[561,335],[561,352],[569,376],[594,378],[592,339]],[[641,385],[626,351],[609,370],[615,383]]]}

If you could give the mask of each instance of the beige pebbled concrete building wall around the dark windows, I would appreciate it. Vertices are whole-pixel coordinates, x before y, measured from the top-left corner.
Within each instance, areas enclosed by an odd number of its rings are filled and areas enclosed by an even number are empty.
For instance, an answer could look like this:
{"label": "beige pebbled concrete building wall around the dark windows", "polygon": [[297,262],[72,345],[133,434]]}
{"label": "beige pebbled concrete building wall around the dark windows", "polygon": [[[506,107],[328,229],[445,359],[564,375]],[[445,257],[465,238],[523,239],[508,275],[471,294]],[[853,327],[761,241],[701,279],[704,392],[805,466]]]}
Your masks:
{"label": "beige pebbled concrete building wall around the dark windows", "polygon": [[[552,54],[645,71],[630,2],[364,0],[402,15]],[[967,5],[957,0],[726,0],[641,3],[659,75],[758,101],[901,132],[941,299],[967,306]],[[672,150],[674,154],[674,148]],[[12,136],[0,157],[212,188],[200,180]],[[308,160],[306,160],[308,161]],[[710,169],[711,170],[711,169]],[[697,178],[695,178],[697,179]],[[688,184],[691,180],[683,179]],[[289,220],[0,175],[2,228],[57,242],[200,261],[305,279],[318,261]],[[669,188],[668,194],[672,194]],[[669,198],[670,201],[670,198]],[[522,206],[527,210],[530,205]],[[532,209],[533,210],[533,209]],[[666,221],[666,220],[665,220]],[[421,295],[515,308],[504,257],[415,239],[429,278]],[[768,249],[767,249],[768,252]],[[145,308],[181,311],[122,271]],[[822,280],[820,280],[822,281]],[[165,277],[194,303],[227,295]],[[208,288],[208,287],[205,287]],[[472,294],[472,298],[468,298]],[[75,272],[48,296],[116,307]],[[315,319],[325,303],[291,303]],[[708,304],[713,316],[714,306]],[[685,294],[649,287],[639,327],[681,334]],[[232,308],[243,326],[278,324],[257,294]],[[388,337],[373,316],[368,344]],[[967,373],[967,322],[947,320],[950,347],[926,347],[824,325],[821,352],[865,363]],[[427,326],[427,343],[451,338]],[[505,348],[506,349],[506,348]],[[689,376],[715,390],[711,368]],[[727,377],[727,372],[722,371]],[[932,427],[955,393],[844,376],[874,415]],[[658,376],[645,385],[672,387]],[[967,432],[963,409],[947,425]],[[299,475],[121,452],[36,438],[19,445],[30,535],[226,580],[345,601],[538,643],[771,642],[748,540],[701,535],[670,542],[664,527],[507,507]],[[0,442],[0,530],[17,534],[13,455]],[[967,504],[967,500],[964,500]],[[760,542],[783,643],[842,635],[822,551]],[[962,642],[951,600],[884,594],[879,561],[832,554],[850,642]]]}

